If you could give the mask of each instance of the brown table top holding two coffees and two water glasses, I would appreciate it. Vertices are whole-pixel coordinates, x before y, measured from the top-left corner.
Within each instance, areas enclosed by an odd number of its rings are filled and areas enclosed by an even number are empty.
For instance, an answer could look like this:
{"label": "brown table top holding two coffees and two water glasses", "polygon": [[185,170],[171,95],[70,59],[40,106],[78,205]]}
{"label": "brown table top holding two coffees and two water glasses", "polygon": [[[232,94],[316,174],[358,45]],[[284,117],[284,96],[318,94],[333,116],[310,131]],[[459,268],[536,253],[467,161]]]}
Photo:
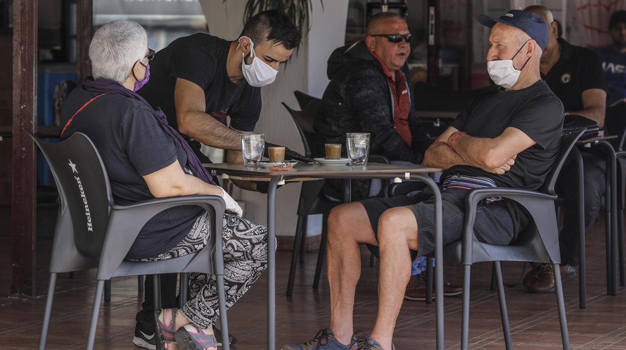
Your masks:
{"label": "brown table top holding two coffees and two water glasses", "polygon": [[418,166],[369,163],[366,167],[351,167],[349,165],[321,165],[297,163],[294,169],[287,172],[272,172],[269,169],[246,167],[242,163],[203,164],[208,170],[228,175],[248,176],[289,176],[289,177],[319,177],[320,175],[376,175],[376,174],[403,174],[403,173],[434,173],[441,172],[438,168],[423,168]]}

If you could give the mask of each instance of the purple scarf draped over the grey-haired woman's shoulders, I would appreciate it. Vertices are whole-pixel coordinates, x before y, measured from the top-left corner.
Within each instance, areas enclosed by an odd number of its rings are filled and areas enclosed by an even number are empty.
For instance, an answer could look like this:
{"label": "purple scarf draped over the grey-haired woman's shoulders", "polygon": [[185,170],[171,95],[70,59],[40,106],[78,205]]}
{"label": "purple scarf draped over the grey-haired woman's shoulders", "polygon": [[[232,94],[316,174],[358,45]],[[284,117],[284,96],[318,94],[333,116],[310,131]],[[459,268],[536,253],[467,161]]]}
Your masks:
{"label": "purple scarf draped over the grey-haired woman's shoulders", "polygon": [[178,143],[180,143],[180,146],[183,148],[183,150],[185,150],[185,153],[187,153],[187,166],[189,167],[189,170],[192,171],[193,175],[195,175],[195,177],[199,178],[200,180],[204,182],[210,183],[212,185],[217,185],[217,183],[213,181],[213,177],[211,177],[211,174],[208,173],[207,169],[205,169],[205,167],[202,166],[202,163],[200,163],[200,160],[198,159],[197,155],[193,153],[193,150],[190,147],[189,143],[187,143],[187,140],[185,140],[185,138],[183,138],[183,136],[180,135],[178,130],[176,130],[175,128],[172,128],[172,126],[170,126],[167,123],[167,117],[165,116],[165,113],[163,113],[161,108],[156,108],[156,110],[154,110],[152,106],[150,106],[150,103],[144,100],[143,97],[139,96],[138,93],[136,93],[133,90],[128,90],[127,88],[120,85],[120,83],[114,80],[110,80],[110,79],[94,80],[93,77],[90,76],[86,78],[85,81],[83,81],[83,86],[85,87],[86,90],[90,90],[90,91],[116,93],[122,96],[126,96],[128,98],[132,98],[133,100],[140,101],[144,105],[150,107],[150,109],[154,111],[156,120],[159,122],[159,124],[161,125],[161,128],[165,131],[165,133],[167,133],[167,135],[170,135],[170,137],[173,140],[178,141]]}

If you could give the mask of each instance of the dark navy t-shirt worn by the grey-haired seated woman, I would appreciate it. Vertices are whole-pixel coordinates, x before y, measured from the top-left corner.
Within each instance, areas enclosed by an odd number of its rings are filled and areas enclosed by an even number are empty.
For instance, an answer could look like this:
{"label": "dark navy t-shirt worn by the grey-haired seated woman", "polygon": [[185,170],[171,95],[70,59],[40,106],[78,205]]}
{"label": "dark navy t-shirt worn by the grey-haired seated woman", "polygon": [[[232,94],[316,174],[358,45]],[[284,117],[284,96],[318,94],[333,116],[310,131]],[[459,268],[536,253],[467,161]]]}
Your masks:
{"label": "dark navy t-shirt worn by the grey-haired seated woman", "polygon": [[[61,125],[97,95],[100,93],[82,87],[74,89],[63,103]],[[85,133],[96,146],[118,205],[155,198],[143,175],[177,159],[181,167],[187,164],[180,143],[163,131],[151,108],[125,96],[109,94],[91,102],[74,117],[63,136],[68,138],[76,132]],[[126,257],[144,259],[172,249],[188,234],[202,211],[185,205],[160,212],[141,229]]]}

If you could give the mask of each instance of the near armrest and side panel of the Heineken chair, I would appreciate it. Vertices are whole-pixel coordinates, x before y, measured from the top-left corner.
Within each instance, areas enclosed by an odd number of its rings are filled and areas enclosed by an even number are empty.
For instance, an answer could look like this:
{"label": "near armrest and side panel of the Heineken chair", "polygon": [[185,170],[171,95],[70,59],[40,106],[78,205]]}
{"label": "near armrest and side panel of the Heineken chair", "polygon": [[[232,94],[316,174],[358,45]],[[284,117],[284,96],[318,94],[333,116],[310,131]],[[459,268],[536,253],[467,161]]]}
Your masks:
{"label": "near armrest and side panel of the Heineken chair", "polygon": [[[109,279],[113,275],[148,220],[163,210],[181,205],[203,207],[211,215],[214,232],[222,232],[225,203],[223,198],[217,195],[157,198],[130,205],[113,205],[101,253],[108,259],[100,260],[98,279]],[[222,235],[212,234],[207,247],[222,251]]]}

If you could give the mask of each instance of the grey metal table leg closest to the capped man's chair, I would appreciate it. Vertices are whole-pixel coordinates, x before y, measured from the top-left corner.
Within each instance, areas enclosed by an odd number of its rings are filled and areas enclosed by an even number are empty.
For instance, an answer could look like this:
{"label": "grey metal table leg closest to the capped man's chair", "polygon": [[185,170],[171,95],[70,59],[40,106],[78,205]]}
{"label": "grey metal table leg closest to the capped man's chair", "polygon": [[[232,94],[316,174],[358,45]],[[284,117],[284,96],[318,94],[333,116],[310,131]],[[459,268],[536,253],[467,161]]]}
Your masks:
{"label": "grey metal table leg closest to the capped man's chair", "polygon": [[441,192],[437,183],[426,174],[412,173],[411,180],[420,180],[433,190],[434,197],[434,257],[437,268],[435,270],[435,305],[436,305],[436,329],[437,329],[437,350],[443,350],[443,210],[441,207]]}

